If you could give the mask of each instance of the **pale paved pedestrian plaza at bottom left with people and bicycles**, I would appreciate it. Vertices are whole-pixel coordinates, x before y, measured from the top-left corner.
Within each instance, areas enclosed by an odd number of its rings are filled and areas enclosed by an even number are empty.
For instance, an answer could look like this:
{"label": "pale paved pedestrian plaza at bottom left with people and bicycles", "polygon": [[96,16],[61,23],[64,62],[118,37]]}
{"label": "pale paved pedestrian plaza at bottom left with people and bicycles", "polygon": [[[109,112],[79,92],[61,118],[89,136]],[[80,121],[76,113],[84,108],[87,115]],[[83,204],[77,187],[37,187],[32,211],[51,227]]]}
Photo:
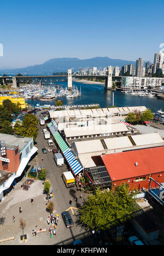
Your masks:
{"label": "pale paved pedestrian plaza at bottom left with people and bicycles", "polygon": [[[46,229],[48,225],[46,220],[49,213],[46,212],[46,200],[43,194],[43,182],[36,180],[31,184],[31,188],[28,191],[22,190],[21,184],[25,181],[22,179],[16,186],[15,190],[12,190],[8,196],[5,196],[1,202],[0,216],[5,217],[4,225],[0,225],[0,240],[15,236],[14,241],[8,241],[2,243],[2,245],[21,245],[20,236],[22,235],[22,229],[20,228],[20,218],[25,220],[26,226],[24,234],[27,235],[25,243],[28,245],[42,245],[44,242],[49,241],[49,232],[43,232],[36,237],[32,237],[32,230]],[[34,199],[33,205],[31,205],[31,199]],[[52,199],[52,201],[54,201]],[[22,208],[22,213],[19,213],[19,207]],[[13,223],[13,216],[15,216],[15,223]]]}

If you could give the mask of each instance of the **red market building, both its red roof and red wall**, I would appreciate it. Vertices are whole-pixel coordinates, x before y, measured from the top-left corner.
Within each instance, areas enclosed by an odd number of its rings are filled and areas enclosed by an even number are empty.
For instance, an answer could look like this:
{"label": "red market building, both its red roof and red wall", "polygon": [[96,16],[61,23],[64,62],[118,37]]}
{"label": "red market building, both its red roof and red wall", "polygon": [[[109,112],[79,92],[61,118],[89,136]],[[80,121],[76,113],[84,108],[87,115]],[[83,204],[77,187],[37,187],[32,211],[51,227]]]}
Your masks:
{"label": "red market building, both its red roof and red wall", "polygon": [[130,190],[139,190],[149,189],[150,178],[164,182],[163,154],[164,147],[157,147],[102,155],[101,159],[108,170],[112,188],[125,183]]}

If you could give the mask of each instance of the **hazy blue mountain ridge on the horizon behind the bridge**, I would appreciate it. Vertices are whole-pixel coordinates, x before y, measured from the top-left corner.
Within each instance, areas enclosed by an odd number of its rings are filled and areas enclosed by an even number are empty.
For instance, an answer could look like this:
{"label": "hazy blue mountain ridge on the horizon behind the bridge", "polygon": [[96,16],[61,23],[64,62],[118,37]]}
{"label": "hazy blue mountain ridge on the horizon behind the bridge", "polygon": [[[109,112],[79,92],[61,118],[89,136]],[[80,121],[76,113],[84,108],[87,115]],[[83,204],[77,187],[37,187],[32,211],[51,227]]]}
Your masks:
{"label": "hazy blue mountain ridge on the horizon behind the bridge", "polygon": [[52,74],[56,72],[67,72],[70,68],[73,72],[78,71],[81,68],[103,68],[107,66],[118,66],[122,67],[128,64],[136,64],[135,61],[110,59],[109,57],[95,57],[92,59],[80,60],[78,58],[57,58],[51,59],[40,65],[29,66],[25,68],[14,68],[14,69],[0,69],[1,74],[15,75],[21,73],[23,75],[37,75],[37,74]]}

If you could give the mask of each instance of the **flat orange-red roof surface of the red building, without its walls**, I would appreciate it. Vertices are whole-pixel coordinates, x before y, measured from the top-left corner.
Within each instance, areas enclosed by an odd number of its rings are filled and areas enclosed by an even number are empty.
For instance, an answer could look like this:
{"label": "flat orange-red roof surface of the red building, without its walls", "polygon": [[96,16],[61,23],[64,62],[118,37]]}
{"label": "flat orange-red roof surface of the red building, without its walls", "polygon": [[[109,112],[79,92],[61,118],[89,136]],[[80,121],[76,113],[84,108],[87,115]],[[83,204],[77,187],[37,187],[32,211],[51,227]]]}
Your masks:
{"label": "flat orange-red roof surface of the red building, without its walls", "polygon": [[164,171],[164,147],[102,155],[101,158],[112,181]]}

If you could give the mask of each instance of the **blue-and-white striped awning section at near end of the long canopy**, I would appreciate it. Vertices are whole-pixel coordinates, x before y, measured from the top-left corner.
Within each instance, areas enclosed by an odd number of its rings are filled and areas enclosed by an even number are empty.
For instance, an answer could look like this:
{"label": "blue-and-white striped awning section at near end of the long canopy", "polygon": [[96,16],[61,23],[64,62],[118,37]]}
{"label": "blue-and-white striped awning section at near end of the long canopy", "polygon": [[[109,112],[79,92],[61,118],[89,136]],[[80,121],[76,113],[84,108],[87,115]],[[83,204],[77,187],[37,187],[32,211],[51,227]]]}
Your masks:
{"label": "blue-and-white striped awning section at near end of the long canopy", "polygon": [[72,168],[72,171],[75,175],[83,170],[83,167],[81,167],[78,160],[75,158],[74,154],[70,149],[63,152],[63,155],[65,156],[69,166]]}

